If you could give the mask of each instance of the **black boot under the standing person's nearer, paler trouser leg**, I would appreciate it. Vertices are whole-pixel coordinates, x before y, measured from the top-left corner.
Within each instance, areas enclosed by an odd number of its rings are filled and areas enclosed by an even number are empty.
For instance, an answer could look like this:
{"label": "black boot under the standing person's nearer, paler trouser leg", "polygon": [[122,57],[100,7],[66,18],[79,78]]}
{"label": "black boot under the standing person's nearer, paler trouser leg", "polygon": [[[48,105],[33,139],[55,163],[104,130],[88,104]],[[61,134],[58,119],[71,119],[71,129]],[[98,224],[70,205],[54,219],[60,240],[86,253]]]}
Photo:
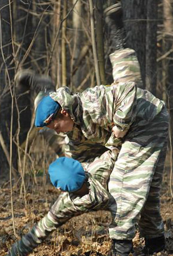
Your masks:
{"label": "black boot under the standing person's nearer, paler trouser leg", "polygon": [[128,256],[133,252],[132,240],[117,240],[113,239],[113,252],[115,256]]}

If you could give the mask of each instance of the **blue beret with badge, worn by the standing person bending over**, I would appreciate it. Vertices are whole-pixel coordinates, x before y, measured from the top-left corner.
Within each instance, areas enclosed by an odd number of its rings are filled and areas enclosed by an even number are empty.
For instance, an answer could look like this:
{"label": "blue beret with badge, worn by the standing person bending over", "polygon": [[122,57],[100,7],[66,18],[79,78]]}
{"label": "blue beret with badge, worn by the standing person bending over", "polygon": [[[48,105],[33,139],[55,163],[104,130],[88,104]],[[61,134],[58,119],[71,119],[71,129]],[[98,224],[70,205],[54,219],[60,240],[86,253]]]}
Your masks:
{"label": "blue beret with badge, worn by the standing person bending over", "polygon": [[57,101],[54,101],[49,95],[43,97],[36,108],[35,126],[43,127],[48,125],[59,109],[60,104]]}

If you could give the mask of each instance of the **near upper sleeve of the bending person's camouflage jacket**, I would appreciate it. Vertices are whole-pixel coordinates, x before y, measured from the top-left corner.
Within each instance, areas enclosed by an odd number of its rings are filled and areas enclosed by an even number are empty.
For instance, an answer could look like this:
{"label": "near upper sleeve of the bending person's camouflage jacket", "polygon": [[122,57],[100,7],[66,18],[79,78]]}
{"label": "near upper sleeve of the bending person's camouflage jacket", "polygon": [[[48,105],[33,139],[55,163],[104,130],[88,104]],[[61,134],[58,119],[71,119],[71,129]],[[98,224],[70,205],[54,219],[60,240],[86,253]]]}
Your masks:
{"label": "near upper sleeve of the bending person's camouflage jacket", "polygon": [[136,117],[137,87],[134,82],[116,85],[113,122],[120,131],[128,130]]}

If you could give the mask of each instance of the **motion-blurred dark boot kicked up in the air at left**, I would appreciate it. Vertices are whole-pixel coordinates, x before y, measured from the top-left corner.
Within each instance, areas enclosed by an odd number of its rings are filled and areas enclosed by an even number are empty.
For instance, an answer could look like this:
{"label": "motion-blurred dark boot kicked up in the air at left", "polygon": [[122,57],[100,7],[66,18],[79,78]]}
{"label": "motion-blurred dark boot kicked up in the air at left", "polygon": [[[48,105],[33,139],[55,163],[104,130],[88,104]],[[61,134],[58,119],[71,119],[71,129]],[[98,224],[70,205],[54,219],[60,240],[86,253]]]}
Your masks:
{"label": "motion-blurred dark boot kicked up in the air at left", "polygon": [[52,83],[50,76],[37,75],[30,69],[19,70],[15,77],[17,87],[33,88],[36,91],[52,90],[55,91],[55,86]]}

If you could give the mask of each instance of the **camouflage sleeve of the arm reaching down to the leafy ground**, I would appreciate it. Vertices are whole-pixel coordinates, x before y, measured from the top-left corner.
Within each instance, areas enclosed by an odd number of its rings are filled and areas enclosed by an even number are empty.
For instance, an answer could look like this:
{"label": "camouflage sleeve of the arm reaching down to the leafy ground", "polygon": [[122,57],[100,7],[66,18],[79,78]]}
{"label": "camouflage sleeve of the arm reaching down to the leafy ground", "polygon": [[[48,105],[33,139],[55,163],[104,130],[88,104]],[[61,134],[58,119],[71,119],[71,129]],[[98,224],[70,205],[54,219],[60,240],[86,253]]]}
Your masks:
{"label": "camouflage sleeve of the arm reaching down to the leafy ground", "polygon": [[39,246],[54,230],[79,215],[67,192],[61,193],[50,211],[25,235],[12,246],[10,256],[27,256]]}

